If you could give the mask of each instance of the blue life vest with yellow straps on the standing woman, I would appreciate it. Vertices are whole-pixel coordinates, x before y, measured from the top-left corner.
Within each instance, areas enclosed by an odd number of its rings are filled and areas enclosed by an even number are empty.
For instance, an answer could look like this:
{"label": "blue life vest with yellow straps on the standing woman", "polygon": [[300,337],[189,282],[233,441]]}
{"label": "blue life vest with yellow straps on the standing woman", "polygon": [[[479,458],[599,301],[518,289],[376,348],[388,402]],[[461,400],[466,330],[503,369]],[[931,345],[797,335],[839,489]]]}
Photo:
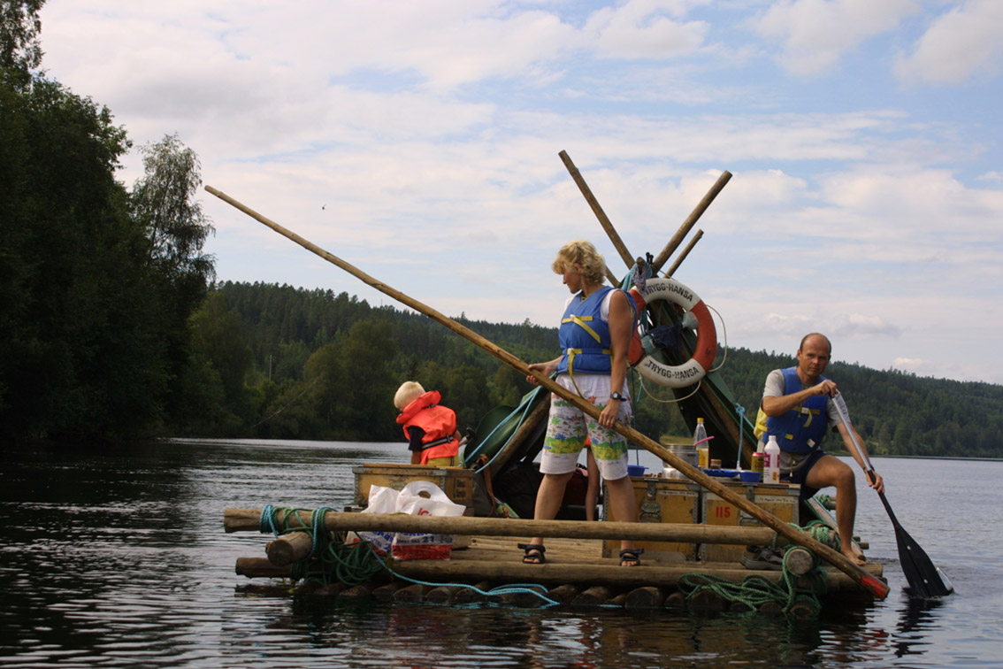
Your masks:
{"label": "blue life vest with yellow straps on the standing woman", "polygon": [[571,299],[558,329],[563,351],[559,374],[609,374],[613,370],[610,325],[600,318],[603,299],[611,290],[616,289],[603,286],[584,300],[581,294]]}

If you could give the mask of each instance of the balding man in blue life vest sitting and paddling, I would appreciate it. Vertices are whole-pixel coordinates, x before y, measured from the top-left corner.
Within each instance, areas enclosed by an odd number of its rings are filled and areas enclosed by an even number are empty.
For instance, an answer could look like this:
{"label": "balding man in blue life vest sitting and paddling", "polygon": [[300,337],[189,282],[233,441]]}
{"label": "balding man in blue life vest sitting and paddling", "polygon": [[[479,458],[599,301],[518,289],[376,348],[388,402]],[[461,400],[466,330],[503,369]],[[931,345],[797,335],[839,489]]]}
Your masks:
{"label": "balding man in blue life vest sitting and paddling", "polygon": [[[835,396],[835,382],[822,376],[832,353],[828,338],[812,333],[801,340],[797,348],[797,366],[774,369],[766,377],[761,413],[766,416],[762,438],[772,434],[780,445],[780,472],[783,478],[801,486],[801,499],[807,499],[818,489],[835,486],[835,523],[840,533],[840,550],[858,565],[865,564],[864,555],[854,546],[854,519],[857,516],[857,481],[854,470],[844,461],[827,455],[818,447],[828,428],[835,427],[843,436],[847,450],[862,468],[864,460],[857,452],[854,439],[830,397]],[[761,417],[761,416],[760,416]],[[757,420],[757,426],[760,421]],[[854,427],[850,427],[854,429]],[[867,449],[860,433],[857,442]],[[868,484],[879,492],[885,491],[885,481],[875,472]]]}

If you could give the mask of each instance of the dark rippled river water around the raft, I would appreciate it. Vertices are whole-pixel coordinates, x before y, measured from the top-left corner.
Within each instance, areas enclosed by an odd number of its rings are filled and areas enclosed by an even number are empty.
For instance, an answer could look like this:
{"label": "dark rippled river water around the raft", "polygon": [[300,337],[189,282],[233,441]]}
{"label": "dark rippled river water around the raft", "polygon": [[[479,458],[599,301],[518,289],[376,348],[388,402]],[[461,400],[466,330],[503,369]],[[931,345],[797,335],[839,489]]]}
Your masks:
{"label": "dark rippled river water around the raft", "polygon": [[811,621],[307,602],[253,594],[234,574],[267,538],[224,534],[227,507],[341,508],[351,465],[405,458],[378,443],[8,446],[0,668],[1003,667],[1000,461],[875,459],[900,522],[957,590],[927,605],[902,593],[891,525],[860,475],[858,534],[892,595]]}

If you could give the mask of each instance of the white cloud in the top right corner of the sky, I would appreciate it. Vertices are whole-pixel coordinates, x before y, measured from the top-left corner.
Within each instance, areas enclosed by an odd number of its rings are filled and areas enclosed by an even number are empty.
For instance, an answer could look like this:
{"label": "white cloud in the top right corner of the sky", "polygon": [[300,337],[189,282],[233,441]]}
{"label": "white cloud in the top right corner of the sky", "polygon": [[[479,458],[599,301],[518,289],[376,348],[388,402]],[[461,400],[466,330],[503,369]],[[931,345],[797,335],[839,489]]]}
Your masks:
{"label": "white cloud in the top right corner of the sky", "polygon": [[996,74],[1003,61],[1003,2],[967,0],[934,20],[895,71],[906,80],[952,84],[977,72]]}

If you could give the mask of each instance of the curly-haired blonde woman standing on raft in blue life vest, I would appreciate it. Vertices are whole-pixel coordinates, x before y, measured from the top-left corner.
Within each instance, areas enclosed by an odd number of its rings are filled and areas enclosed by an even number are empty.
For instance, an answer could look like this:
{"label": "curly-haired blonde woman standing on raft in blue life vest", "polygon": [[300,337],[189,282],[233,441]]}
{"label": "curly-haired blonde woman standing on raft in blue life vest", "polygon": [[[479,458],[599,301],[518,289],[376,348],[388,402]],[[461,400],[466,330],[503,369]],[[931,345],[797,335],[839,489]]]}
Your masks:
{"label": "curly-haired blonde woman standing on raft in blue life vest", "polygon": [[[627,439],[612,429],[617,420],[631,416],[627,391],[627,349],[634,329],[634,305],[627,293],[603,286],[606,262],[589,242],[566,244],[551,266],[563,275],[572,292],[565,306],[558,336],[561,357],[530,365],[548,376],[558,372],[558,384],[602,408],[597,422],[574,404],[551,396],[551,413],[544,440],[540,471],[544,479],[537,492],[534,519],[553,520],[561,509],[565,486],[575,471],[586,437],[592,442],[596,463],[606,479],[609,504],[618,521],[637,520],[634,486],[627,476]],[[536,384],[535,376],[528,376]],[[523,562],[542,565],[544,538],[520,544]],[[621,542],[620,564],[637,567],[642,551]]]}

